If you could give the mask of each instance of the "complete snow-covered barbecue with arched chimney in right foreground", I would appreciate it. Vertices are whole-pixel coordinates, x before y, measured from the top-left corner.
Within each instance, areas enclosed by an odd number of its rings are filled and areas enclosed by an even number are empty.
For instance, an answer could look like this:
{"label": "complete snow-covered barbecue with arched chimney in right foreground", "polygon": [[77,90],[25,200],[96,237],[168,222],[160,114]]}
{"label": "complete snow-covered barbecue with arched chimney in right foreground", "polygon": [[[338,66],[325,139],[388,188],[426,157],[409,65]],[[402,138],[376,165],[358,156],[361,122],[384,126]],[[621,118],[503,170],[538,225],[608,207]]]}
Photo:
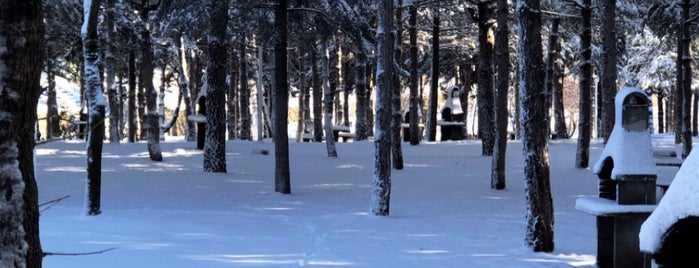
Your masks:
{"label": "complete snow-covered barbecue with arched chimney in right foreground", "polygon": [[637,88],[616,95],[614,129],[593,171],[599,197],[577,200],[575,207],[597,217],[599,267],[650,267],[639,250],[639,230],[655,209],[657,172],[648,129],[648,96]]}

